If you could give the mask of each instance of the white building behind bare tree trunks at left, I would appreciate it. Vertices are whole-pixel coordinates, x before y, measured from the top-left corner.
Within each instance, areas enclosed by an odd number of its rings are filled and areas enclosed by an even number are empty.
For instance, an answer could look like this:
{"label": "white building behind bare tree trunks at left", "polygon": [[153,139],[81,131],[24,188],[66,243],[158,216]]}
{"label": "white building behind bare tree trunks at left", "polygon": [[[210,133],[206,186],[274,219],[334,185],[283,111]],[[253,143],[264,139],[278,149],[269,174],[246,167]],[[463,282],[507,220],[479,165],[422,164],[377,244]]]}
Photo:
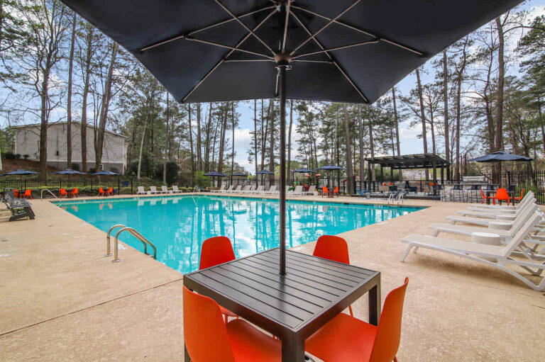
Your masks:
{"label": "white building behind bare tree trunks at left", "polygon": [[[67,164],[67,123],[58,122],[48,126],[48,165],[57,169],[65,169]],[[72,122],[72,165],[82,170],[82,125]],[[31,161],[40,160],[40,125],[18,125],[11,128],[15,132],[15,149],[13,153],[28,154]],[[106,130],[102,149],[100,170],[108,170],[124,174],[127,166],[126,136]],[[94,159],[94,127],[87,125],[87,171],[95,169]]]}

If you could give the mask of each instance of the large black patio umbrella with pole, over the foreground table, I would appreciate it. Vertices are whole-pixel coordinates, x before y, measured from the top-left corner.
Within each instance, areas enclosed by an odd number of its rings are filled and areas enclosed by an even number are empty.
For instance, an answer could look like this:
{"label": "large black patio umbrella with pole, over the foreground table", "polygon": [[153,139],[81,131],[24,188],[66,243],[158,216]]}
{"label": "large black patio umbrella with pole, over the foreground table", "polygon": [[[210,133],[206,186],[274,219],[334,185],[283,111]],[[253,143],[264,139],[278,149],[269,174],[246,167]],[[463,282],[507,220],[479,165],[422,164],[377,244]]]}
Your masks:
{"label": "large black patio umbrella with pole, over the foreground table", "polygon": [[280,98],[282,275],[286,98],[372,103],[521,2],[62,1],[131,52],[181,103]]}

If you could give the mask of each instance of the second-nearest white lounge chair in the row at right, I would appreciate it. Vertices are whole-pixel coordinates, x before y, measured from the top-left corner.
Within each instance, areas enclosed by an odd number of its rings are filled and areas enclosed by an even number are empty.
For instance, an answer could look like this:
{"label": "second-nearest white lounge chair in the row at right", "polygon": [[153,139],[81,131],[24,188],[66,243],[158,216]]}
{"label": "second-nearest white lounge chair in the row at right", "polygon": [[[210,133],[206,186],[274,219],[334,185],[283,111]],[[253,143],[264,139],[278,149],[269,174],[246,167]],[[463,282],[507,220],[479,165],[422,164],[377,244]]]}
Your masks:
{"label": "second-nearest white lounge chair in the row at right", "polygon": [[536,213],[537,210],[539,210],[539,207],[536,204],[531,205],[529,208],[524,210],[524,213],[520,215],[520,217],[517,217],[516,220],[514,220],[510,230],[491,229],[490,225],[487,229],[485,227],[478,227],[478,226],[475,227],[475,226],[462,226],[462,225],[439,224],[439,223],[431,224],[429,225],[429,228],[431,230],[434,230],[434,237],[439,235],[439,232],[448,232],[449,234],[468,235],[468,236],[473,234],[473,232],[491,232],[492,234],[500,235],[500,237],[502,237],[505,243],[508,243],[514,237],[514,235],[517,234],[517,232],[520,230],[522,225],[524,225],[524,222],[527,222],[529,218]]}

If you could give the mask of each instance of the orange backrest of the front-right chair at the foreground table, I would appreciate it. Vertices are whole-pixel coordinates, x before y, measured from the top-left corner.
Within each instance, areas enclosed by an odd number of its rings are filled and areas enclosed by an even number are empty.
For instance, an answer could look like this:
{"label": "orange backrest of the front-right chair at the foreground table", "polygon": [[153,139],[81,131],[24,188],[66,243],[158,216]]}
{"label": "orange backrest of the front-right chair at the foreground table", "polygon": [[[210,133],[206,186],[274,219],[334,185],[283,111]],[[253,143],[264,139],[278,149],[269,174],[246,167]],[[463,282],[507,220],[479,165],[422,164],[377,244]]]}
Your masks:
{"label": "orange backrest of the front-right chair at the foreground table", "polygon": [[403,316],[403,302],[409,278],[400,287],[392,290],[382,306],[382,315],[378,323],[378,331],[373,344],[370,362],[393,361],[400,348],[401,318]]}

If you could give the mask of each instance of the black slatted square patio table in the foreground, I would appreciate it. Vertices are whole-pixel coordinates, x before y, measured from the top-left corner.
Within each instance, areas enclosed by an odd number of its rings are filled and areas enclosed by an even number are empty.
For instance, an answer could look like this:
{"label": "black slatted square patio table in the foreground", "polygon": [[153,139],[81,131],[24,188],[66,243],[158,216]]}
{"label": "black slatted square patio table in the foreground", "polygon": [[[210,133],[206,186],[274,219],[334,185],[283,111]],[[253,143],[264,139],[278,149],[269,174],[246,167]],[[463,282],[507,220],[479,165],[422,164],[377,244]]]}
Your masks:
{"label": "black slatted square patio table in the foreground", "polygon": [[[184,285],[277,336],[282,361],[303,362],[304,341],[369,292],[369,322],[380,317],[380,272],[279,248],[184,276]],[[189,361],[187,350],[185,361]]]}

